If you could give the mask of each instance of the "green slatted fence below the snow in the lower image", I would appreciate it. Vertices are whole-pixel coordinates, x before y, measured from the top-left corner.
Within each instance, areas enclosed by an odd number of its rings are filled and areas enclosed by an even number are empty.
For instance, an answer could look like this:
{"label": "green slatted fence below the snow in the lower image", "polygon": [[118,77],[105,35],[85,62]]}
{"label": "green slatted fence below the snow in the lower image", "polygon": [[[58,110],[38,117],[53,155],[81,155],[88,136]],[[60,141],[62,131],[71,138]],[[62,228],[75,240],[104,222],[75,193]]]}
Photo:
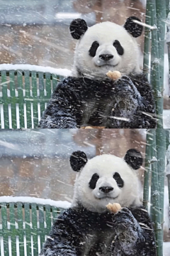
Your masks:
{"label": "green slatted fence below the snow in the lower image", "polygon": [[0,202],[0,255],[38,255],[62,208]]}

